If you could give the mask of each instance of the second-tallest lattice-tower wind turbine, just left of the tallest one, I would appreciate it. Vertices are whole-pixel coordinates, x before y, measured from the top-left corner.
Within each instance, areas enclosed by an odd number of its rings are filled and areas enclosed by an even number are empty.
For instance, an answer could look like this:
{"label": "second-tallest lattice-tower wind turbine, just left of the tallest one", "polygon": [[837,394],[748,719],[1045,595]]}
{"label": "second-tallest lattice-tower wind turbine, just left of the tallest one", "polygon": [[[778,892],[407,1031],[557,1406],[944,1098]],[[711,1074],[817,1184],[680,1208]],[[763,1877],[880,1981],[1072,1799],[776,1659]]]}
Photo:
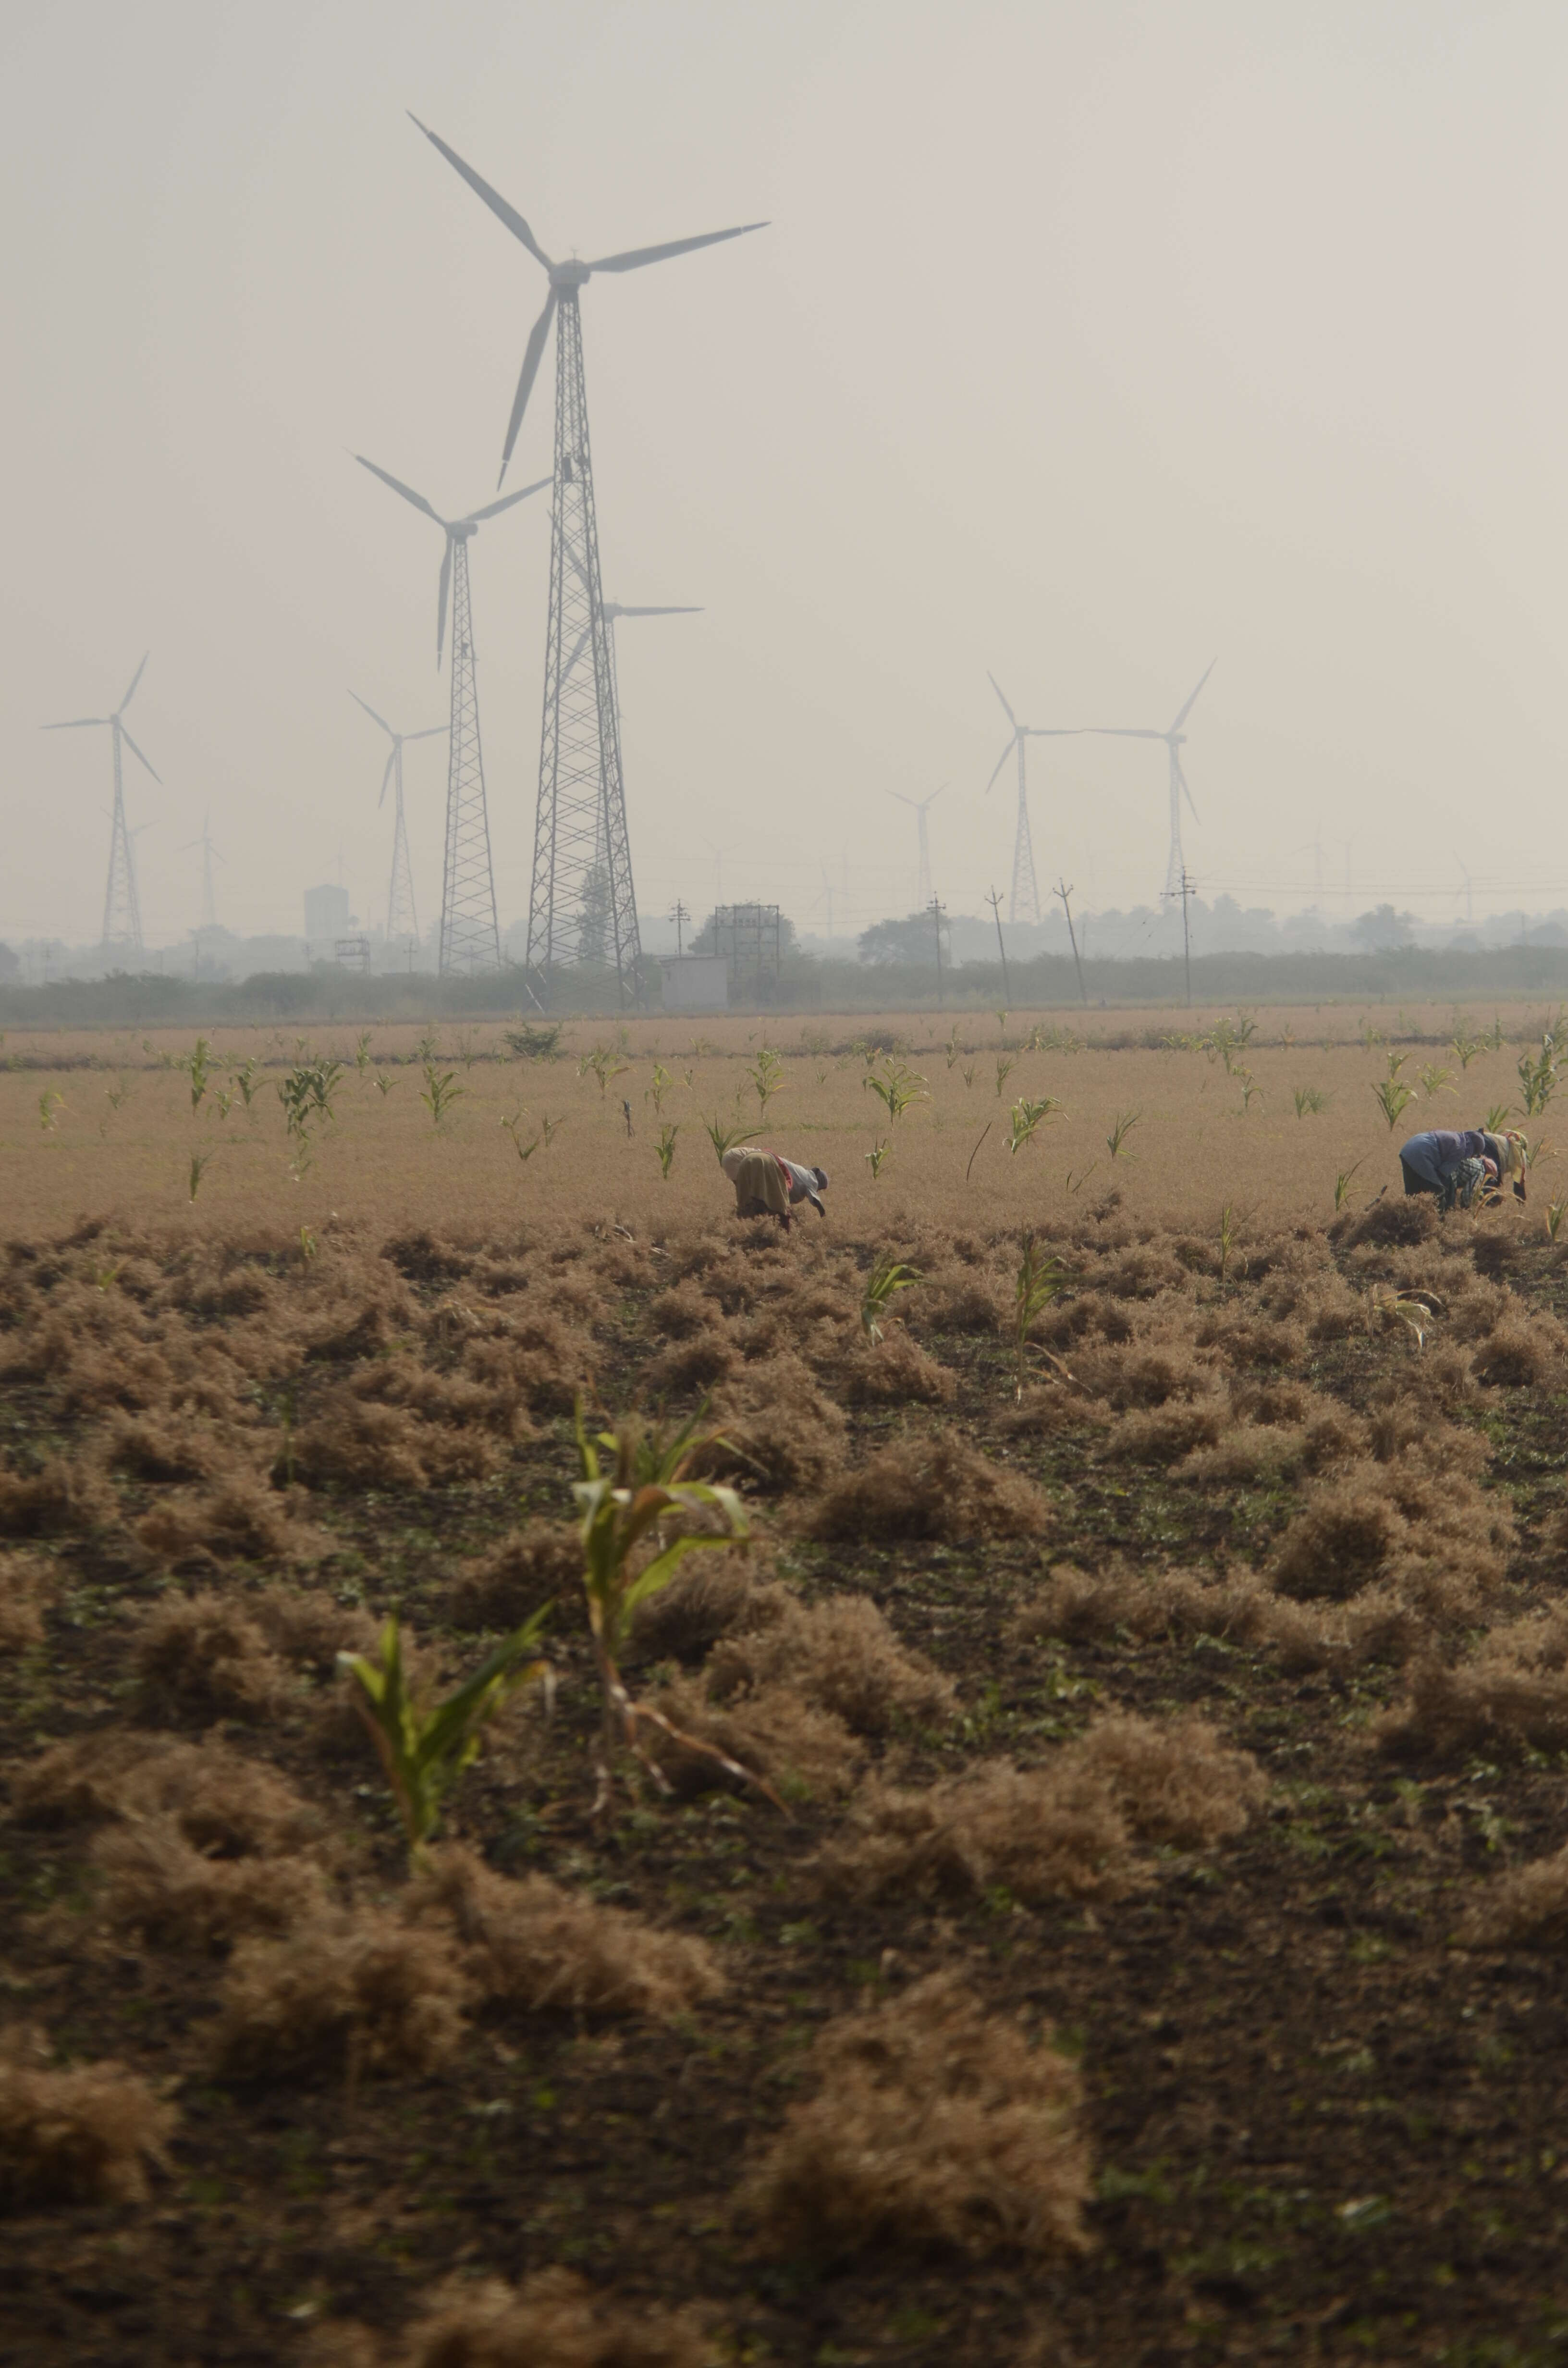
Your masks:
{"label": "second-tallest lattice-tower wind turbine, just left of the tallest one", "polygon": [[[362,469],[400,493],[405,502],[433,519],[445,535],[441,554],[441,590],[436,594],[436,665],[445,644],[445,604],[452,594],[452,739],[445,784],[445,867],[441,874],[441,976],[448,971],[500,971],[500,928],[495,924],[495,867],[490,862],[490,812],[486,807],[486,762],[478,746],[478,691],[474,687],[474,623],[469,609],[469,542],[486,519],[514,502],[526,502],[550,483],[540,476],[521,493],[486,502],[464,519],[443,519],[412,485],[377,469],[355,452]],[[377,722],[381,718],[377,715]],[[410,888],[412,902],[412,888]]]}

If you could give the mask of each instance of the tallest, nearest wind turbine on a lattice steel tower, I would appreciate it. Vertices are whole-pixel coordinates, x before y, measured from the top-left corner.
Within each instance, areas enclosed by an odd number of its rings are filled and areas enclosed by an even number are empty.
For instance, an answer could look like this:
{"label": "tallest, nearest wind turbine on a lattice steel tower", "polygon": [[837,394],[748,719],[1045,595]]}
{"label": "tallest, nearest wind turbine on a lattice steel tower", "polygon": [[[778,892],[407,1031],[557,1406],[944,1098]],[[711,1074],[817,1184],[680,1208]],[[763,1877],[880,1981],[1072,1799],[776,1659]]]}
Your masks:
{"label": "tallest, nearest wind turbine on a lattice steel tower", "polygon": [[[415,123],[419,118],[415,116]],[[528,969],[547,980],[573,961],[597,959],[599,938],[613,942],[621,1002],[640,992],[642,940],[632,893],[632,852],[625,824],[616,675],[599,583],[599,521],[595,511],[592,452],[587,443],[587,388],[583,381],[583,315],[578,296],[595,272],[637,272],[644,263],[694,253],[739,239],[763,223],[706,230],[696,239],[630,246],[592,263],[557,263],[533,230],[488,180],[419,123],[426,140],[483,197],[514,239],[550,275],[545,310],[528,332],[523,367],[512,398],[512,419],[500,471],[507,474],[516,431],[545,358],[550,324],[559,315],[554,348],[554,514],[550,533],[550,625],[545,635],[545,722],[540,729],[540,803],[533,822],[533,883],[528,890]],[[592,646],[592,670],[573,668],[568,651],[580,639]],[[592,680],[590,680],[592,675]],[[609,867],[609,879],[604,871]]]}

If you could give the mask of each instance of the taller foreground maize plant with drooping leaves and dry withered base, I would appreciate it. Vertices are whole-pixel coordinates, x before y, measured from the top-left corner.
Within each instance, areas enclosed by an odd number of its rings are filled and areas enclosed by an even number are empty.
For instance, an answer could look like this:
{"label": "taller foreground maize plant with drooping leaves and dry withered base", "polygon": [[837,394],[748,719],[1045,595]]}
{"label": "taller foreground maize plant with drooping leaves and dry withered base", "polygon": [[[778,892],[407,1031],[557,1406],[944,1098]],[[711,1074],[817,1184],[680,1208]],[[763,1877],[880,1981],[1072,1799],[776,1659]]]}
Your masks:
{"label": "taller foreground maize plant with drooping leaves and dry withered base", "polygon": [[[640,1729],[658,1726],[687,1750],[713,1759],[739,1783],[751,1783],[782,1807],[777,1793],[751,1769],[739,1767],[727,1752],[696,1736],[682,1733],[663,1712],[647,1703],[635,1703],[621,1677],[621,1660],[630,1636],[632,1615],[640,1603],[670,1584],[687,1553],[699,1549],[722,1551],[751,1542],[746,1508],[732,1487],[692,1480],[692,1466],[711,1447],[725,1447],[715,1433],[701,1433],[706,1407],[666,1440],[656,1430],[637,1423],[621,1423],[618,1430],[602,1430],[590,1440],[583,1428],[578,1402],[578,1471],[571,1494],[578,1501],[578,1537],[583,1542],[583,1594],[587,1598],[587,1627],[592,1636],[599,1691],[604,1695],[604,1724],[595,1764],[597,1795],[595,1816],[604,1812],[613,1785],[613,1755],[630,1750],[647,1769],[661,1793],[670,1790],[663,1769],[642,1748]],[[609,1471],[599,1461],[599,1449],[613,1459]],[[680,1527],[666,1534],[670,1523],[706,1520],[713,1527]],[[642,1549],[651,1546],[649,1561]]]}

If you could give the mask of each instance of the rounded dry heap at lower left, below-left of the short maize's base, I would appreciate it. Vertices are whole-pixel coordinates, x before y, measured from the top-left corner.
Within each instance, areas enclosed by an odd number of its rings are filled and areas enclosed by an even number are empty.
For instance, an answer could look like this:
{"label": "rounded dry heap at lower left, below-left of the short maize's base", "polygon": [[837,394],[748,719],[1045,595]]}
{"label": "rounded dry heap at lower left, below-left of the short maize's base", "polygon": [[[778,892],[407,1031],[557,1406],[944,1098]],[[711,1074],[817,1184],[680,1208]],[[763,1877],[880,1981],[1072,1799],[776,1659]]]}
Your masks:
{"label": "rounded dry heap at lower left, below-left of the short maize's base", "polygon": [[239,1942],[218,1994],[230,2079],[433,2072],[462,2041],[469,1982],[452,1939],[384,1909],[327,1911]]}

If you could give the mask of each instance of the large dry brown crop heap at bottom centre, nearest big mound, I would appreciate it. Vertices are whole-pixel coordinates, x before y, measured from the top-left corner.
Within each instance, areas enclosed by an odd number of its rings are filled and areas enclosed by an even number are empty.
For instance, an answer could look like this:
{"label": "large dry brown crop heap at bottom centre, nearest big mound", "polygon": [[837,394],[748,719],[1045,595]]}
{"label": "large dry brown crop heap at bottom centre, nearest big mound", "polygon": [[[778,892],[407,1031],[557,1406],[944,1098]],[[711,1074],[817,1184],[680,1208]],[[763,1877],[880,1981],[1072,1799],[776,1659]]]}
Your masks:
{"label": "large dry brown crop heap at bottom centre, nearest big mound", "polygon": [[746,2186],[779,2250],[874,2242],[983,2257],[1082,2245],[1080,2081],[1047,2039],[988,2018],[959,1973],[841,2015],[815,2039],[820,2096],[793,2105]]}

